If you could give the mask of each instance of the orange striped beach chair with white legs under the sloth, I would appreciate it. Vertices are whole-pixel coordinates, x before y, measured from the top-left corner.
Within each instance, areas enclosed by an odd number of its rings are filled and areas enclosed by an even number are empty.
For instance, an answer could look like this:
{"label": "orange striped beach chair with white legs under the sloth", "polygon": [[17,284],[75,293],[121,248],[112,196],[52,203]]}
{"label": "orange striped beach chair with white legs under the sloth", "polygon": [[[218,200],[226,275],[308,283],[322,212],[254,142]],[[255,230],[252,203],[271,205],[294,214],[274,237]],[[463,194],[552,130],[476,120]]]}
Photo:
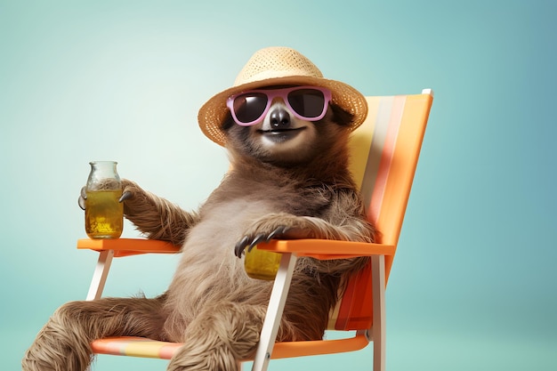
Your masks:
{"label": "orange striped beach chair with white legs under the sloth", "polygon": [[[367,215],[382,237],[379,243],[320,239],[273,240],[258,248],[282,253],[270,296],[261,340],[253,360],[254,371],[266,370],[270,359],[358,351],[373,343],[373,369],[385,368],[385,286],[399,242],[400,229],[416,171],[433,94],[367,97],[368,116],[351,138],[351,171],[367,206]],[[101,297],[113,257],[147,253],[178,253],[179,247],[147,239],[80,239],[77,248],[100,253],[87,300]],[[278,324],[297,257],[338,259],[370,256],[365,270],[350,278],[342,300],[330,314],[329,328],[351,331],[348,338],[311,342],[275,343]],[[99,354],[171,359],[180,343],[144,338],[99,339]],[[370,360],[371,363],[371,360]]]}

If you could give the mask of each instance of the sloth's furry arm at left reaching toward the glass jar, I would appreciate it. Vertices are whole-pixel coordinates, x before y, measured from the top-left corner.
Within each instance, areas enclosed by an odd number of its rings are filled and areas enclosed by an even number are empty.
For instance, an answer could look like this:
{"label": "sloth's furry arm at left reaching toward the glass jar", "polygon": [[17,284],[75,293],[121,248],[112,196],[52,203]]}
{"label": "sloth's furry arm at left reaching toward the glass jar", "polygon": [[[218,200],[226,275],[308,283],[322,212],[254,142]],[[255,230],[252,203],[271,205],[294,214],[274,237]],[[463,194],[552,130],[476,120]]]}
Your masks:
{"label": "sloth's furry arm at left reaching toward the glass jar", "polygon": [[141,189],[133,181],[124,179],[122,185],[125,218],[149,239],[182,246],[190,228],[199,221],[198,213],[188,213],[165,198]]}

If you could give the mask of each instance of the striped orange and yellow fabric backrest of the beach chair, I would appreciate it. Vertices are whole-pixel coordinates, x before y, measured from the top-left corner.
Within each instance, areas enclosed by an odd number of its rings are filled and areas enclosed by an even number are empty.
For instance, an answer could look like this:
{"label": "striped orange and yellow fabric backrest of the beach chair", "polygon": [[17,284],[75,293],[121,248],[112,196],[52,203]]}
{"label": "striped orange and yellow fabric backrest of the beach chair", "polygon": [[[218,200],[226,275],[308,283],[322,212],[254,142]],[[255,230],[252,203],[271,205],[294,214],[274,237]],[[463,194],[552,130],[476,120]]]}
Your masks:
{"label": "striped orange and yellow fabric backrest of the beach chair", "polygon": [[[351,172],[367,215],[382,244],[397,246],[425,125],[432,107],[429,89],[416,95],[367,97],[366,122],[351,137]],[[385,256],[385,280],[394,255]],[[359,330],[373,323],[371,266],[350,278],[332,311],[329,329]]]}

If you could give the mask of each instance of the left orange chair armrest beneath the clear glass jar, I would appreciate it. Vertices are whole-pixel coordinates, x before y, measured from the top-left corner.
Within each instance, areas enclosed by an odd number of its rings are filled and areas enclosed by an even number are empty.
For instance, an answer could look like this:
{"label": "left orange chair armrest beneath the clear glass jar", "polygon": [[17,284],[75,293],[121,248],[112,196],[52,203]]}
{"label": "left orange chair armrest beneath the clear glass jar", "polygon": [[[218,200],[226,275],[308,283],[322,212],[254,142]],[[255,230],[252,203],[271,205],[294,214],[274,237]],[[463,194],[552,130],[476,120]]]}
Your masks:
{"label": "left orange chair armrest beneath the clear glass jar", "polygon": [[146,238],[82,238],[77,240],[77,248],[98,252],[113,250],[115,257],[149,253],[176,254],[180,253],[181,249],[180,246],[174,246],[168,241]]}

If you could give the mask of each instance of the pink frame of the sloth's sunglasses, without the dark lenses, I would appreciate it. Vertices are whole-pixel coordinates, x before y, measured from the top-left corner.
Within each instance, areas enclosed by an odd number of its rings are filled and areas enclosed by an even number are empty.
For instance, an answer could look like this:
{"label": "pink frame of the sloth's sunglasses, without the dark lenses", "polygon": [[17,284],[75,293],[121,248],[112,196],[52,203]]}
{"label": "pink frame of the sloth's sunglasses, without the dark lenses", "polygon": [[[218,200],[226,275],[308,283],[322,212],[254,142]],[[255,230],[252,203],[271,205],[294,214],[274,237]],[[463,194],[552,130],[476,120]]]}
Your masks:
{"label": "pink frame of the sloth's sunglasses, without the dark lenses", "polygon": [[[288,101],[288,94],[289,93],[295,92],[296,90],[307,90],[307,89],[317,90],[318,92],[323,94],[323,100],[324,100],[323,101],[323,111],[317,117],[303,117],[298,112],[296,112],[296,110],[290,105],[290,102]],[[265,109],[263,109],[261,116],[257,117],[256,119],[254,119],[253,121],[250,121],[248,123],[243,123],[240,120],[238,120],[238,117],[236,117],[236,112],[234,111],[234,101],[239,96],[249,94],[249,93],[264,93],[267,96],[267,105],[265,106]],[[321,118],[325,117],[325,114],[327,113],[328,104],[331,101],[331,96],[332,96],[332,93],[327,88],[320,87],[320,86],[310,86],[310,85],[308,85],[308,86],[292,86],[292,87],[287,87],[287,88],[283,88],[283,89],[254,89],[254,90],[248,90],[246,92],[241,92],[241,93],[230,95],[230,97],[226,100],[226,106],[230,109],[230,113],[232,114],[232,118],[234,119],[236,124],[238,124],[240,126],[252,126],[252,125],[260,123],[261,120],[262,120],[262,117],[265,117],[265,115],[267,115],[267,112],[269,112],[270,105],[271,105],[272,101],[277,97],[281,98],[282,101],[285,102],[285,104],[287,105],[287,108],[290,109],[290,111],[292,112],[292,114],[295,117],[297,117],[301,120],[306,120],[306,121],[318,121]]]}

